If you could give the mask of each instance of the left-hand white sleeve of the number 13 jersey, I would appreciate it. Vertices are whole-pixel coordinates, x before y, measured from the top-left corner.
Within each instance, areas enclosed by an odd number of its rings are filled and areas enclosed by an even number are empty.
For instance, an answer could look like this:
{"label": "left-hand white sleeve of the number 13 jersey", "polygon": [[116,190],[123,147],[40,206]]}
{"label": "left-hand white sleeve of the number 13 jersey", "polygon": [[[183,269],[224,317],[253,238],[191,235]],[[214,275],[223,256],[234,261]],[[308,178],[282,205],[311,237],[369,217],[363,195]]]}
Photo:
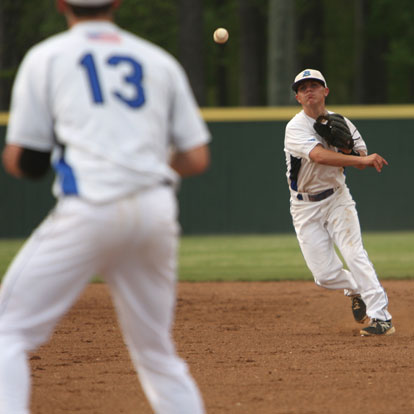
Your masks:
{"label": "left-hand white sleeve of the number 13 jersey", "polygon": [[24,57],[12,91],[6,142],[49,151],[53,146],[53,119],[48,100],[47,59],[39,49]]}

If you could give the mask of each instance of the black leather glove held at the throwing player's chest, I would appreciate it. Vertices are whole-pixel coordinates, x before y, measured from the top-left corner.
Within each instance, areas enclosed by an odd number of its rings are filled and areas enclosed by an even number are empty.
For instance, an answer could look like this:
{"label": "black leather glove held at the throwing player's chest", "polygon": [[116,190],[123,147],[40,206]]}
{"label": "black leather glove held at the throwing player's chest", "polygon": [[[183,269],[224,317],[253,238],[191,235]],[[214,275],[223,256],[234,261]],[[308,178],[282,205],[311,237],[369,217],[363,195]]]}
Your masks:
{"label": "black leather glove held at the throwing player's chest", "polygon": [[313,124],[315,131],[325,141],[337,148],[352,149],[354,140],[345,118],[340,114],[321,115]]}

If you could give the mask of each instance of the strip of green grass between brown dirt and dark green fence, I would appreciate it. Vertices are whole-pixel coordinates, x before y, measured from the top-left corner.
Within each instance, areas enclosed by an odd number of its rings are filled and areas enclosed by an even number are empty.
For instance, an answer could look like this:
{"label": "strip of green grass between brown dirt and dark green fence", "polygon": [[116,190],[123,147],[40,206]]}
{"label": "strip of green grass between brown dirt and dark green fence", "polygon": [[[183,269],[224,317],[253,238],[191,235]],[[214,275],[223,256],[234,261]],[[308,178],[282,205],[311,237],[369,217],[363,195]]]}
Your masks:
{"label": "strip of green grass between brown dirt and dark green fence", "polygon": [[[364,233],[364,245],[381,280],[414,278],[414,232]],[[22,240],[0,240],[3,275]],[[182,281],[313,280],[294,234],[184,236]]]}

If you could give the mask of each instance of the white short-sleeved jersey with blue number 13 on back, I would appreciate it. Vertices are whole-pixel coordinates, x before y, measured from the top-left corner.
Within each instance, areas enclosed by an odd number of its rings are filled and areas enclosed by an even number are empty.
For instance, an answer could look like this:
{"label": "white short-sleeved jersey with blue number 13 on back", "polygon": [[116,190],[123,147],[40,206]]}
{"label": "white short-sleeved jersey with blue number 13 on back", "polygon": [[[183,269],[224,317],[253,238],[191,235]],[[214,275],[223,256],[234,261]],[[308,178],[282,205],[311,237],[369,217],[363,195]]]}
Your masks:
{"label": "white short-sleeved jersey with blue number 13 on back", "polygon": [[7,142],[53,149],[56,196],[106,202],[176,182],[168,144],[208,141],[181,66],[111,22],[76,24],[32,48],[19,69]]}

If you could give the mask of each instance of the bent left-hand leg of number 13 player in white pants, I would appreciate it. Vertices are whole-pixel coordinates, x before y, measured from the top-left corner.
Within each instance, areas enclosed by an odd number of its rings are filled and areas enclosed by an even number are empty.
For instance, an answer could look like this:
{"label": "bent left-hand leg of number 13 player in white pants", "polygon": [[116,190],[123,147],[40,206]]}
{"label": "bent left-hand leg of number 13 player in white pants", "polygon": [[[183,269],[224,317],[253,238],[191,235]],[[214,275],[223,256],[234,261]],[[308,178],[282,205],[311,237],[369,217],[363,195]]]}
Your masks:
{"label": "bent left-hand leg of number 13 player in white pants", "polygon": [[70,204],[58,204],[14,258],[2,282],[1,414],[29,413],[27,352],[48,339],[94,274],[90,220]]}

